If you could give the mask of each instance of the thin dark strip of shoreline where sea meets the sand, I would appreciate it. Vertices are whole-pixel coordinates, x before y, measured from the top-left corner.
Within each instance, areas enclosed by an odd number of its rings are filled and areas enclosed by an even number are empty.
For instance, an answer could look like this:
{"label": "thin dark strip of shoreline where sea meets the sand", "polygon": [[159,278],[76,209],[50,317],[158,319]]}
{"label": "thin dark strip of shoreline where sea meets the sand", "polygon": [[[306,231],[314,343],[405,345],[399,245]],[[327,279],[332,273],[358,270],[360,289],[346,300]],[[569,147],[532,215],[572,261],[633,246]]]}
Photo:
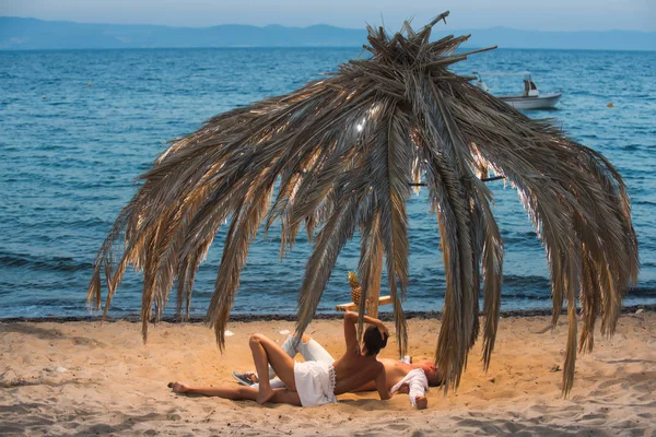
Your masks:
{"label": "thin dark strip of shoreline where sea meets the sand", "polygon": [[[637,310],[642,309],[645,312],[656,312],[656,304],[651,305],[631,305],[622,307],[622,315],[632,315]],[[563,309],[561,315],[565,315],[566,311]],[[547,317],[551,316],[550,309],[516,309],[516,310],[507,310],[501,311],[501,317]],[[314,317],[317,320],[335,320],[341,319],[342,312],[333,312],[333,314],[317,314]],[[380,320],[390,321],[393,320],[393,314],[388,311],[382,311],[379,314]],[[442,311],[406,311],[406,319],[441,319]],[[102,316],[71,316],[71,317],[8,317],[0,318],[0,323],[67,323],[67,322],[79,322],[79,321],[102,321]],[[191,316],[188,321],[181,321],[176,319],[175,317],[163,317],[161,322],[166,323],[204,323],[206,317],[203,316]],[[248,315],[248,314],[235,314],[230,317],[231,322],[250,322],[250,321],[272,321],[272,320],[284,320],[284,321],[295,321],[296,315]],[[107,317],[105,322],[114,323],[118,321],[127,321],[131,323],[141,322],[141,318],[139,315],[127,315],[125,317]]]}

